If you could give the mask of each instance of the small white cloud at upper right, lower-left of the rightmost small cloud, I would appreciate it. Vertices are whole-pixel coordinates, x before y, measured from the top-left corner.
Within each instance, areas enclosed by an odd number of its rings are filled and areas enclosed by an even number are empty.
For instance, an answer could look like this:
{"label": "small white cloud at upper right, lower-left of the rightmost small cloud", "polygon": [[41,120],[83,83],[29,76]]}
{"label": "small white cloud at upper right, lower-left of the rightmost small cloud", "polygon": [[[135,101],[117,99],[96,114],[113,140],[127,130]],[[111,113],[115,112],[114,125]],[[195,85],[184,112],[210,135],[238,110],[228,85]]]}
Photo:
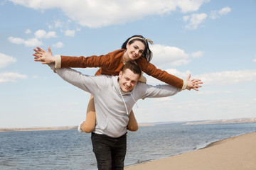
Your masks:
{"label": "small white cloud at upper right, lower-left of the rightmost small cloud", "polygon": [[185,28],[189,30],[196,30],[198,25],[203,23],[207,16],[208,15],[206,13],[193,13],[191,16],[183,16],[183,21],[188,22]]}

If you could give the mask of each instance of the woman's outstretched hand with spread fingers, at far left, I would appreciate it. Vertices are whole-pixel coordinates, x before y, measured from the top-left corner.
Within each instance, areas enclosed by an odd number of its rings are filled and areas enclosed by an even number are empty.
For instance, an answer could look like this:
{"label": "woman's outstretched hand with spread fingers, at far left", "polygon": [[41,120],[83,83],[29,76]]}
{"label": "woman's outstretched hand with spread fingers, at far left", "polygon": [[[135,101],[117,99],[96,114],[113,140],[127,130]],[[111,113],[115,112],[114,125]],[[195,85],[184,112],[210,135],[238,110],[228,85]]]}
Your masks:
{"label": "woman's outstretched hand with spread fingers, at far left", "polygon": [[33,53],[35,62],[42,62],[42,64],[50,64],[55,62],[55,57],[53,57],[53,52],[51,52],[50,47],[48,47],[48,52],[43,50],[41,47],[36,47],[33,49],[36,53]]}

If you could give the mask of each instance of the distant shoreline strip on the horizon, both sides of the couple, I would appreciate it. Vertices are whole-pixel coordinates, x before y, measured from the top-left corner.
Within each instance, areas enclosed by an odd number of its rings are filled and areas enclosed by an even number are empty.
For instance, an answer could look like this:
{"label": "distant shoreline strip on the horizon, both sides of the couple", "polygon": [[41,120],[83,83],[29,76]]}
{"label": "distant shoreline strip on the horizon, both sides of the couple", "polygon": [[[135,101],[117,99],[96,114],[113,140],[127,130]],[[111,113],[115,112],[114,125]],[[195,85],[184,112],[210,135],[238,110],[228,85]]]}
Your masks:
{"label": "distant shoreline strip on the horizon, both sides of the couple", "polygon": [[[181,123],[183,125],[208,125],[208,124],[227,124],[227,123],[256,123],[256,118],[239,118],[230,120],[199,120],[184,122],[161,122],[161,123],[139,123],[139,127],[154,126],[164,124]],[[71,130],[77,129],[78,126],[62,126],[62,127],[35,127],[35,128],[0,128],[0,132],[11,131],[33,131],[33,130]]]}

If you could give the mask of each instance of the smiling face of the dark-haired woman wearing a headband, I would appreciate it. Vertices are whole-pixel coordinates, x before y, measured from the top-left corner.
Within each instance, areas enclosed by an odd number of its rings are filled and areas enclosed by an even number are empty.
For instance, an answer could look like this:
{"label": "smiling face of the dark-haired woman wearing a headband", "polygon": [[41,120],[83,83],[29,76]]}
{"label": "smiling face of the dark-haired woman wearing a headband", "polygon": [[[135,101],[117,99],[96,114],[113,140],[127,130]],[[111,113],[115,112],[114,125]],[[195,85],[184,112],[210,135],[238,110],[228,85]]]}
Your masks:
{"label": "smiling face of the dark-haired woman wearing a headband", "polygon": [[142,57],[145,50],[145,45],[139,40],[135,40],[132,44],[127,43],[127,57],[129,60],[137,60]]}

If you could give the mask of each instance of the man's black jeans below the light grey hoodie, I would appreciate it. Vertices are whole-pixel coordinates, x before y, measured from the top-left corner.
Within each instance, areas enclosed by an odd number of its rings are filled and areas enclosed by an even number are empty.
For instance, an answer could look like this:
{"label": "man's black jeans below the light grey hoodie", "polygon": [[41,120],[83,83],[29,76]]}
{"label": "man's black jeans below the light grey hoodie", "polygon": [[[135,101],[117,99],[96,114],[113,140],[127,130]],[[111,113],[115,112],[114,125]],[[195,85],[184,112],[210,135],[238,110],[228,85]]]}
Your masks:
{"label": "man's black jeans below the light grey hoodie", "polygon": [[127,135],[112,138],[92,132],[92,147],[99,170],[124,169],[124,157],[127,150]]}

